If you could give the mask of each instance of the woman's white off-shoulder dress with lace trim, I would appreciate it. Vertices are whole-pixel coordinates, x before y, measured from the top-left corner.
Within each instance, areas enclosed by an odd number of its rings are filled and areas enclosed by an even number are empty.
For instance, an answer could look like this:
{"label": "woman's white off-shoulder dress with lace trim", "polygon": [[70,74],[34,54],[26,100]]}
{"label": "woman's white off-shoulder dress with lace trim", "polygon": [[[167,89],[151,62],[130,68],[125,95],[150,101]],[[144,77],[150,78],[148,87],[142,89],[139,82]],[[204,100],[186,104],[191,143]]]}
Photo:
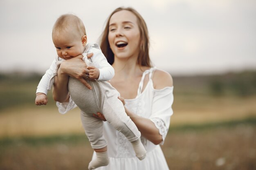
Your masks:
{"label": "woman's white off-shoulder dress with lace trim", "polygon": [[[170,125],[170,117],[173,114],[171,108],[173,104],[173,86],[165,87],[161,90],[154,89],[152,81],[154,70],[155,68],[150,68],[143,73],[137,97],[135,99],[126,99],[125,106],[132,113],[153,121],[164,141]],[[150,79],[141,93],[144,78],[148,74]],[[141,141],[146,148],[147,154],[146,158],[140,161],[135,156],[132,145],[126,137],[115,130],[108,122],[103,124],[103,135],[108,141],[110,161],[108,166],[102,166],[95,170],[169,170],[160,146],[153,144],[144,137],[141,137]],[[92,159],[95,159],[95,153]]]}

